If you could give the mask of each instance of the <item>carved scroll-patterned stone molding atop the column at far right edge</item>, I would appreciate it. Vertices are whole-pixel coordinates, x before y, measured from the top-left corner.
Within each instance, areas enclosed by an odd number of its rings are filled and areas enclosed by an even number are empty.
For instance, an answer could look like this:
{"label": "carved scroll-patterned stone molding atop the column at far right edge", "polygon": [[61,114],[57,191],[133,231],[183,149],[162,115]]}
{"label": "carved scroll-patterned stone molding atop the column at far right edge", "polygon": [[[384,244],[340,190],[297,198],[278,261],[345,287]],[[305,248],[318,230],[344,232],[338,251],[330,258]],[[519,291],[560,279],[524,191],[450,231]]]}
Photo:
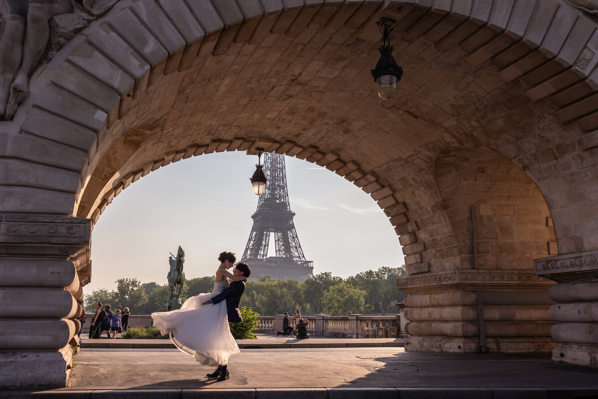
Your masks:
{"label": "carved scroll-patterned stone molding atop the column at far right edge", "polygon": [[591,278],[598,272],[598,251],[538,258],[533,261],[533,268],[536,275],[554,281]]}

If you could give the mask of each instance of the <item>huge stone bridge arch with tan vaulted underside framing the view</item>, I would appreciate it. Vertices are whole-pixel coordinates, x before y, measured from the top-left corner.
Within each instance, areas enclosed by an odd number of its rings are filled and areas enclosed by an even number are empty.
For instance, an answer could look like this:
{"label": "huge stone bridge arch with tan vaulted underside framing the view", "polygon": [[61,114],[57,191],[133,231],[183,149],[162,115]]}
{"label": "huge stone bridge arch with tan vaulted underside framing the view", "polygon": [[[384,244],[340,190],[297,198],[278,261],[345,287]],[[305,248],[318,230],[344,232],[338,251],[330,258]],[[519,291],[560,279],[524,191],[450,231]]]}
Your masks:
{"label": "huge stone bridge arch with tan vaulted underside framing the view", "polygon": [[[398,21],[393,54],[405,69],[388,102],[369,75],[380,17]],[[264,147],[371,195],[400,236],[411,276],[398,285],[415,301],[463,267],[437,167],[468,147],[523,170],[545,199],[559,254],[588,256],[598,249],[592,18],[558,0],[121,0],[38,72],[14,120],[0,123],[0,212],[14,241],[3,255],[68,257],[85,284],[89,223],[121,190],[190,156]],[[549,284],[522,276],[540,291]],[[23,286],[11,278],[8,287]],[[57,322],[72,336],[72,304],[63,305]],[[419,331],[413,350],[444,339]]]}

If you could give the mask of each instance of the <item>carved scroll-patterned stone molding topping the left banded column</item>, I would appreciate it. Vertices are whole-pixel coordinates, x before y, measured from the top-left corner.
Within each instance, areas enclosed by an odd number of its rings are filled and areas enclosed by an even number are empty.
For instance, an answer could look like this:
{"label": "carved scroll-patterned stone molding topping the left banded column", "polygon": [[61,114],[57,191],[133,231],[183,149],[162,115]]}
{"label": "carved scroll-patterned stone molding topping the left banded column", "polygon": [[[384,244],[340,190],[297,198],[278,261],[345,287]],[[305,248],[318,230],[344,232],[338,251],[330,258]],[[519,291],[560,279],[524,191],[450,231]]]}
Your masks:
{"label": "carved scroll-patterned stone molding topping the left banded column", "polygon": [[66,258],[81,248],[89,248],[90,239],[89,219],[0,215],[0,255],[62,255]]}

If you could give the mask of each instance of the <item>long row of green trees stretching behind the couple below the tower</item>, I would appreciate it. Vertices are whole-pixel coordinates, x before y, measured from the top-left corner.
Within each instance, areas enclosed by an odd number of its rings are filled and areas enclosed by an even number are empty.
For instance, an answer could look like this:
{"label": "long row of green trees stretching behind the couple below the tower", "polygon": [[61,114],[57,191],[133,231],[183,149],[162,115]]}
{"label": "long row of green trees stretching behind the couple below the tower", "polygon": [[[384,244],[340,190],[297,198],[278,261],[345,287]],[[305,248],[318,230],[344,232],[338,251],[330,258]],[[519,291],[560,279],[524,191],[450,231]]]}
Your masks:
{"label": "long row of green trees stretching behind the couple below the tower", "polygon": [[[295,313],[300,309],[303,313],[393,313],[397,312],[395,303],[407,295],[396,289],[396,278],[405,275],[405,267],[380,267],[378,270],[367,270],[350,276],[347,279],[332,276],[332,273],[320,273],[300,283],[297,280],[280,281],[271,276],[261,276],[260,281],[250,281],[246,284],[245,294],[241,304],[260,315],[280,315],[284,312]],[[345,306],[345,296],[338,293],[341,283],[364,292],[364,305],[355,303],[352,307]],[[116,281],[117,290],[94,290],[85,296],[86,312],[95,313],[94,304],[109,303],[112,310],[129,307],[133,314],[149,315],[152,312],[166,310],[166,303],[170,296],[167,284],[156,282],[141,283],[137,279],[122,278]],[[214,277],[200,277],[185,282],[181,299],[209,293],[214,285]],[[343,286],[346,287],[346,286]],[[351,291],[353,292],[353,291]],[[328,293],[324,304],[325,294]]]}

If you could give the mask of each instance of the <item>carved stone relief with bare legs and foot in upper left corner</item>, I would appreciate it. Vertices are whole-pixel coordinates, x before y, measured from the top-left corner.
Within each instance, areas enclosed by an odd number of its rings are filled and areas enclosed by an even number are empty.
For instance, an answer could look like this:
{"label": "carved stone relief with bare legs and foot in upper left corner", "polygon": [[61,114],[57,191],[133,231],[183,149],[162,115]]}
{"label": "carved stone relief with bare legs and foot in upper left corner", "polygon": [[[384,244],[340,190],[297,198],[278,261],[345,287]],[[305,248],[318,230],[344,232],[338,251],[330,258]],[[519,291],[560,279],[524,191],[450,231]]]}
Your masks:
{"label": "carved stone relief with bare legs and foot in upper left corner", "polygon": [[0,0],[0,120],[12,120],[39,63],[118,1]]}

